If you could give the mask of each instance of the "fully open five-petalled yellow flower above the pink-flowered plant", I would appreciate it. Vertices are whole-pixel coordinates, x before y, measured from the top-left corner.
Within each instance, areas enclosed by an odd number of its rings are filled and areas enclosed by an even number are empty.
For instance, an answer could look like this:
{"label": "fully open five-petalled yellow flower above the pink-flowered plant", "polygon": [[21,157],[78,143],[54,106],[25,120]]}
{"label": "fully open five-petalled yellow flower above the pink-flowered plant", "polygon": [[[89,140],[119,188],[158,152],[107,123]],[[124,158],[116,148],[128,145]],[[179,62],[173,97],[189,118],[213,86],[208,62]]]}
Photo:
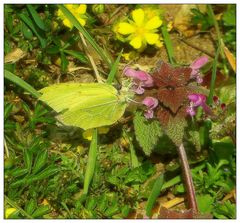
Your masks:
{"label": "fully open five-petalled yellow flower above the pink-flowered plant", "polygon": [[157,29],[162,25],[162,20],[155,15],[151,19],[145,15],[143,9],[132,11],[132,20],[129,22],[120,22],[117,26],[117,32],[127,36],[130,45],[135,49],[145,48],[147,44],[154,45],[159,42]]}

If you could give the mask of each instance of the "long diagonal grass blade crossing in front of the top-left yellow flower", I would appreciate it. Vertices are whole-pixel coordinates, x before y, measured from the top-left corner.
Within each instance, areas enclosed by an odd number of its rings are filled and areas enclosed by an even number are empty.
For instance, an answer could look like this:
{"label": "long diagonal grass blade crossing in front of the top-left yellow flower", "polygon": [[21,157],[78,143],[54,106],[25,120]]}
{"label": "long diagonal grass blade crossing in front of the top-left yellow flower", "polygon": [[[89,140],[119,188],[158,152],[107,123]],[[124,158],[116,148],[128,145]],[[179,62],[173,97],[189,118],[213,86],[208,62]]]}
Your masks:
{"label": "long diagonal grass blade crossing in front of the top-left yellow flower", "polygon": [[112,65],[111,59],[106,55],[106,52],[95,42],[95,40],[87,32],[87,30],[72,15],[72,13],[64,5],[58,5],[58,8],[68,18],[68,20],[72,23],[72,25],[75,26],[83,34],[83,36],[92,45],[92,47],[96,50],[96,52],[99,54],[99,56],[107,63],[109,68],[111,68],[111,65]]}

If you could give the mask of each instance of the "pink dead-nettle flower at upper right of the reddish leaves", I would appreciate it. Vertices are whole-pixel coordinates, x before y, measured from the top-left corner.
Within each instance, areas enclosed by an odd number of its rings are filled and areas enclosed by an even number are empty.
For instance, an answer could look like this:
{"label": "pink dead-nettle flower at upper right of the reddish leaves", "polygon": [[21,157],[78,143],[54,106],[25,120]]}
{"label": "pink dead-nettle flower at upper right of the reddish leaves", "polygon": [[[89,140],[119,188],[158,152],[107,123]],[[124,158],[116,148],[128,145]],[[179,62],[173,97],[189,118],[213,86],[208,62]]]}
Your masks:
{"label": "pink dead-nettle flower at upper right of the reddish leaves", "polygon": [[191,78],[195,78],[197,83],[199,84],[203,82],[200,68],[203,67],[207,62],[208,58],[206,56],[202,56],[194,60],[193,63],[190,65],[190,68],[192,68]]}

